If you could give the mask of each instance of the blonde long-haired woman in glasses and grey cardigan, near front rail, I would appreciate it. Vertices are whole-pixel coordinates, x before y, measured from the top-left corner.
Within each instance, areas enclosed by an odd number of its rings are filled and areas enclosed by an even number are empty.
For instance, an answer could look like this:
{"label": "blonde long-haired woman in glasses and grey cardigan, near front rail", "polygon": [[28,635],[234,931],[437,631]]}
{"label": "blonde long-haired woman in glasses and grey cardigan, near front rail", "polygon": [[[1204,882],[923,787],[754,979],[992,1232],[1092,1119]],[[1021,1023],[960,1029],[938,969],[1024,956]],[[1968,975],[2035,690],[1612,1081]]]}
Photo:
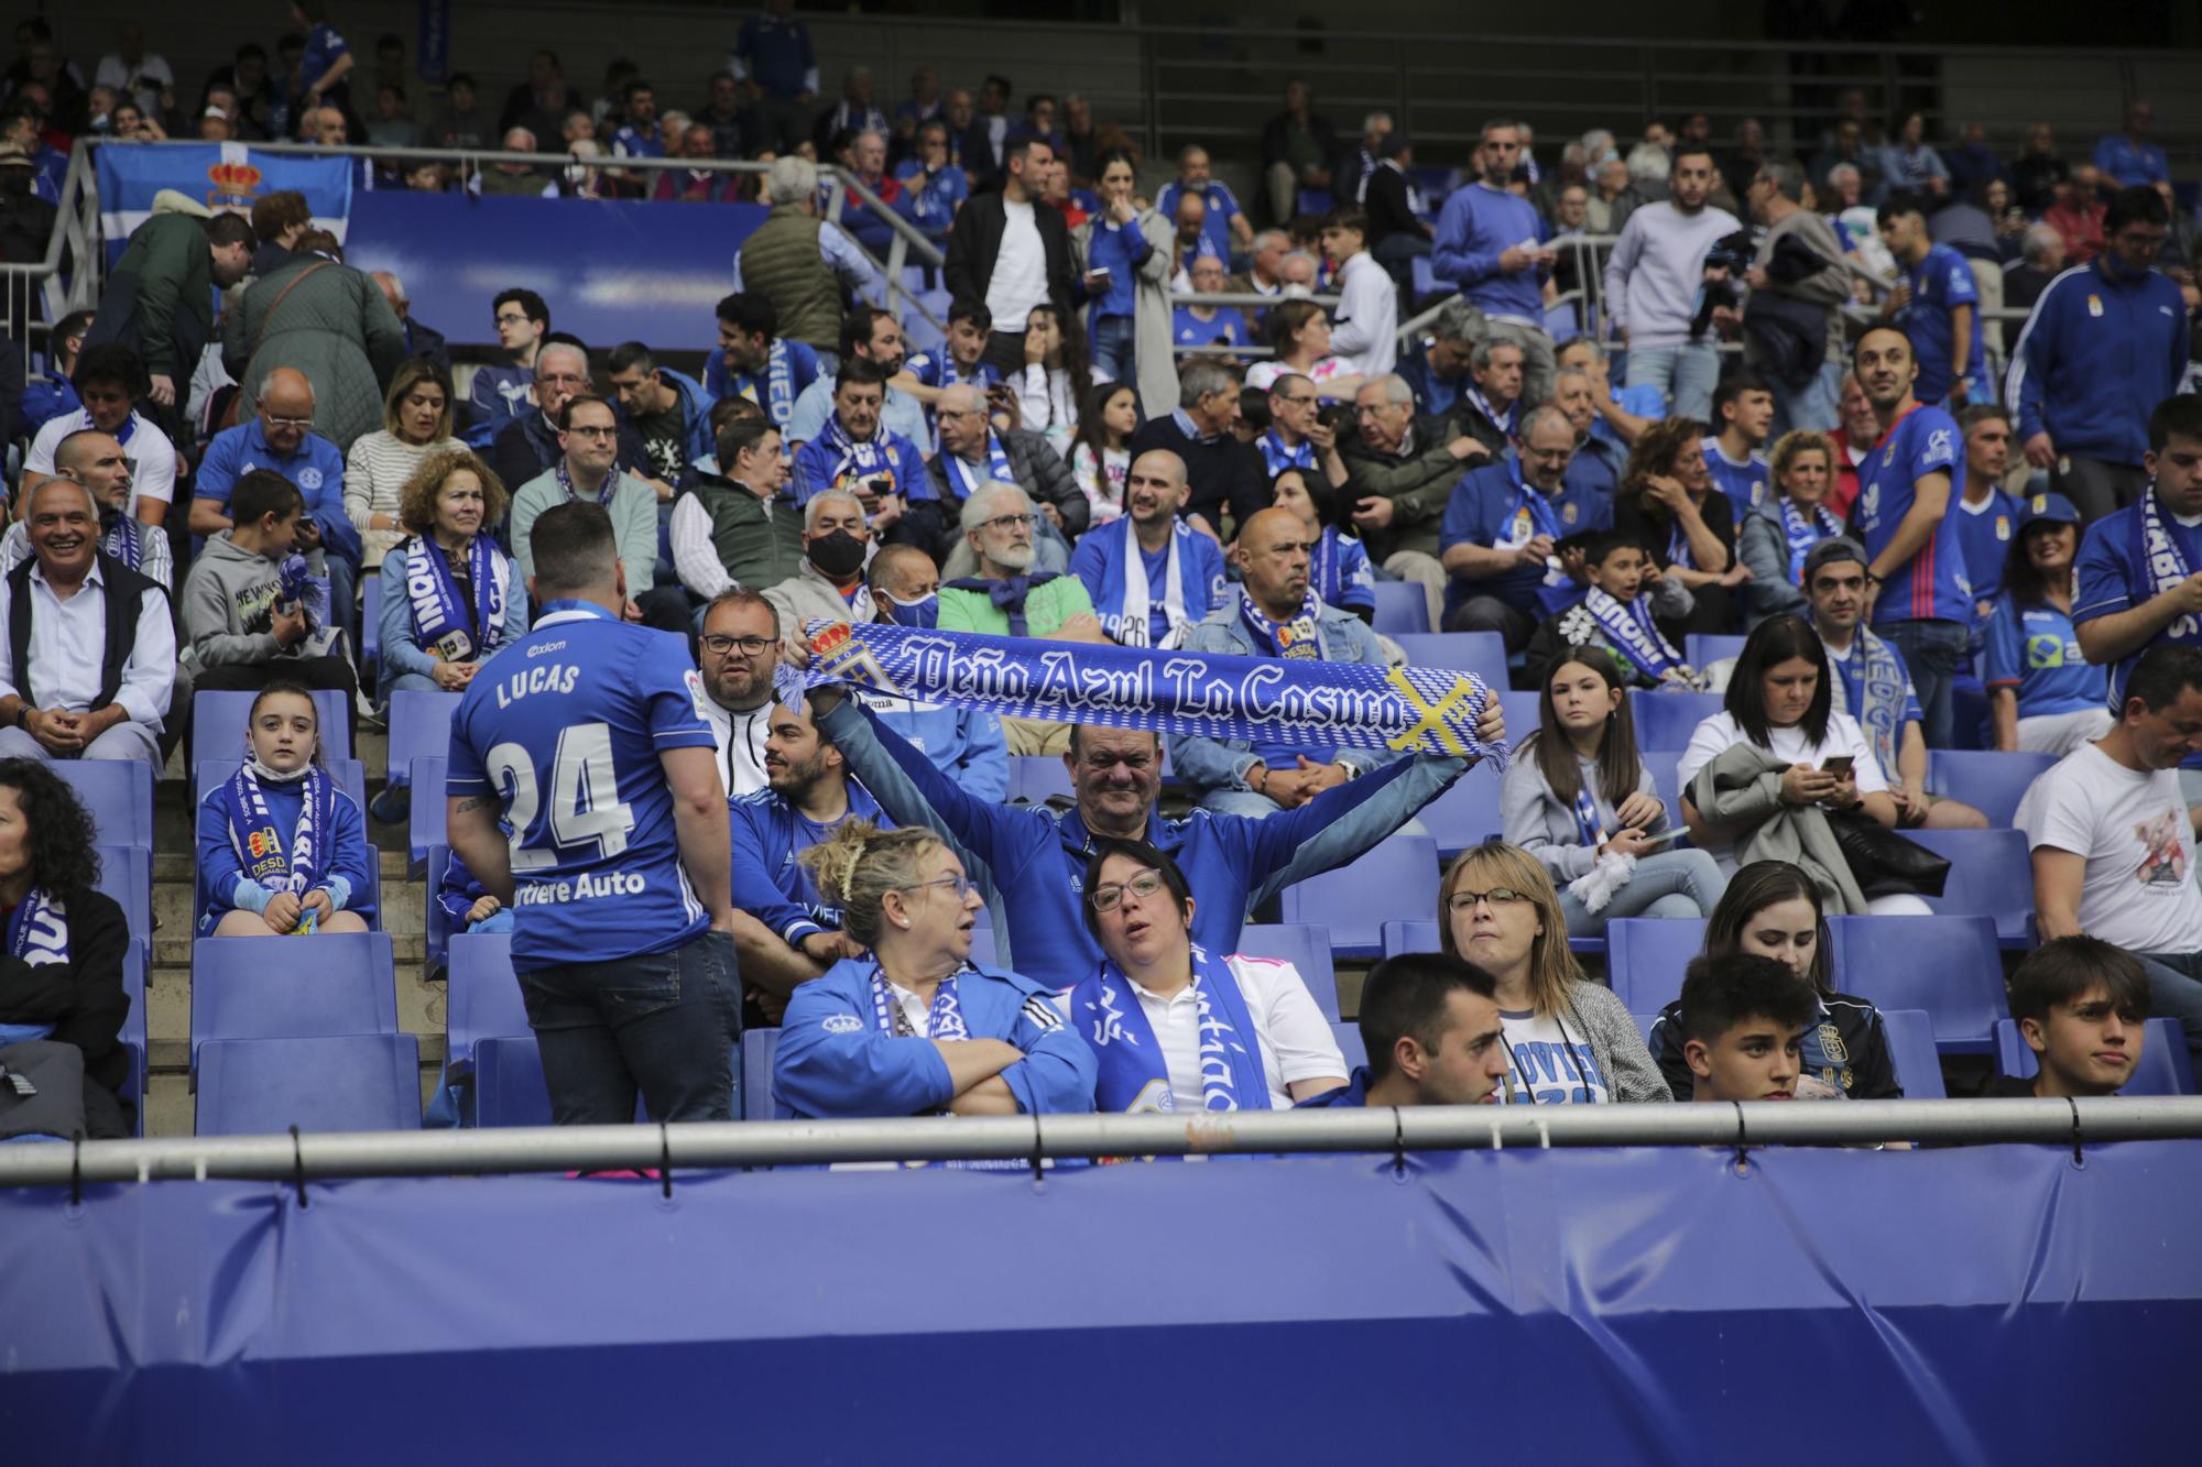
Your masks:
{"label": "blonde long-haired woman in glasses and grey cardigan, near front rail", "polygon": [[1568,952],[1568,916],[1530,852],[1500,841],[1462,850],[1438,888],[1438,945],[1497,985],[1513,1104],[1674,1099],[1636,1020]]}

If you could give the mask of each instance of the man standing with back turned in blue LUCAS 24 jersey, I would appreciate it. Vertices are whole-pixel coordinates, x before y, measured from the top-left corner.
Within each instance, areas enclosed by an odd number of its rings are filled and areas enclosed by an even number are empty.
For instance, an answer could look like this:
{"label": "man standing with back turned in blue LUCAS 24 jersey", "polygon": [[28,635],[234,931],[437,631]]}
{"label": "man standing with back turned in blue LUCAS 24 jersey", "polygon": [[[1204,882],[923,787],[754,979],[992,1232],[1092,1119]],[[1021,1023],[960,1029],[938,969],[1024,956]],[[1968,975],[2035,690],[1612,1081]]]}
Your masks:
{"label": "man standing with back turned in blue LUCAS 24 jersey", "polygon": [[[451,718],[451,852],[513,910],[559,1126],[733,1119],[727,791],[678,637],[621,621],[612,522],[535,520],[533,630]],[[504,835],[500,822],[511,828]]]}

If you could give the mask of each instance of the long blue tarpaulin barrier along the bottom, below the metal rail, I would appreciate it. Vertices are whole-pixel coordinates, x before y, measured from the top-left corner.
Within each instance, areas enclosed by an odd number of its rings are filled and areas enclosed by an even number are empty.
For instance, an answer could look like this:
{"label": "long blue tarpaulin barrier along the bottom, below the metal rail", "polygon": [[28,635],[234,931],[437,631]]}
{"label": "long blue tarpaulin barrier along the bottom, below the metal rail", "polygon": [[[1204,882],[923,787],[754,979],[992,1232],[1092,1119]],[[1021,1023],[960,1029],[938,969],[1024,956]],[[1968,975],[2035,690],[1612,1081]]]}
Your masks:
{"label": "long blue tarpaulin barrier along the bottom, below the metal rail", "polygon": [[2193,1456],[2193,1141],[308,1196],[0,1196],[11,1456]]}

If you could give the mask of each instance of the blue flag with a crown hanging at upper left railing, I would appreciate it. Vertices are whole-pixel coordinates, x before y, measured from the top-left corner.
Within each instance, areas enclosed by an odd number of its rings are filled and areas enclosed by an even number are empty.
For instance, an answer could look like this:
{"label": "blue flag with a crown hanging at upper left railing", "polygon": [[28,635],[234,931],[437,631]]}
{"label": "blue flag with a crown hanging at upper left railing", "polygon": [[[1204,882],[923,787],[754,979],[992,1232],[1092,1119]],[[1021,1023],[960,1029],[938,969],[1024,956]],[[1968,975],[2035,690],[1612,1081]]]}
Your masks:
{"label": "blue flag with a crown hanging at upper left railing", "polygon": [[92,156],[99,163],[99,231],[108,242],[108,264],[121,258],[161,189],[240,214],[277,189],[297,189],[313,209],[313,222],[337,240],[344,240],[352,216],[350,159],[260,152],[244,143],[108,143]]}

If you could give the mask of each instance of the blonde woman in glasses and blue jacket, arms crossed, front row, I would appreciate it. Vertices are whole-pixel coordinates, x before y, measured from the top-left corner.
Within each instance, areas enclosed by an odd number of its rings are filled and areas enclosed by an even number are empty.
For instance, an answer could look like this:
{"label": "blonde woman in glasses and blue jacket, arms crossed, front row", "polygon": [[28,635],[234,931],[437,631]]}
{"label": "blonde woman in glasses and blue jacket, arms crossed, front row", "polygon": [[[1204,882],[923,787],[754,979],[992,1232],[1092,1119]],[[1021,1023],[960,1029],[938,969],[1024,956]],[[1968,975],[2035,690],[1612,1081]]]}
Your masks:
{"label": "blonde woman in glasses and blue jacket, arms crossed, front row", "polygon": [[971,963],[982,910],[931,830],[850,819],[797,857],[870,949],[795,989],[780,1022],[782,1119],[1094,1108],[1094,1057],[1044,987]]}

